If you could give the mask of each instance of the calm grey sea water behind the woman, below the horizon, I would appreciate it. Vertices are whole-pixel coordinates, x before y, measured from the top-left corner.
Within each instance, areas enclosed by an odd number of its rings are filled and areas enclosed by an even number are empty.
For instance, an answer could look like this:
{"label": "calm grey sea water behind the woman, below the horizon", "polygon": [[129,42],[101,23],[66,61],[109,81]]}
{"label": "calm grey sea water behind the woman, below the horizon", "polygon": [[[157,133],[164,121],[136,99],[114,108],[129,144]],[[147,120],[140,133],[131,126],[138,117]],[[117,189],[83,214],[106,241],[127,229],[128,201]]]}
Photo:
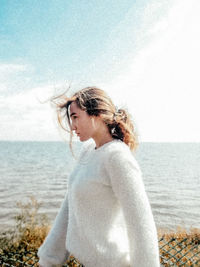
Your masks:
{"label": "calm grey sea water behind the woman, below the horizon", "polygon": [[[156,226],[200,228],[200,143],[141,143],[135,157]],[[74,164],[67,143],[0,142],[0,230],[14,226],[16,203],[30,196],[53,222]]]}

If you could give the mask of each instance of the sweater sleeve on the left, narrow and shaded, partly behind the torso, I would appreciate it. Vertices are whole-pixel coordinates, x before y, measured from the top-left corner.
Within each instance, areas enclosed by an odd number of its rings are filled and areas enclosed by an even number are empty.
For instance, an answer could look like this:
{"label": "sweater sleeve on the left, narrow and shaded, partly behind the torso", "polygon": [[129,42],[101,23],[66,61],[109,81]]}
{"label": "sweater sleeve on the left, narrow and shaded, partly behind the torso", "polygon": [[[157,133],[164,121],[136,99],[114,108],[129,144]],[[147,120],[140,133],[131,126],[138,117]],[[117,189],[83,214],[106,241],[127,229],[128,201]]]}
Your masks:
{"label": "sweater sleeve on the left, narrow and shaded, partly behind the torso", "polygon": [[44,243],[38,250],[39,263],[44,267],[62,264],[69,253],[65,248],[68,225],[68,197],[67,194],[56,216],[53,227]]}

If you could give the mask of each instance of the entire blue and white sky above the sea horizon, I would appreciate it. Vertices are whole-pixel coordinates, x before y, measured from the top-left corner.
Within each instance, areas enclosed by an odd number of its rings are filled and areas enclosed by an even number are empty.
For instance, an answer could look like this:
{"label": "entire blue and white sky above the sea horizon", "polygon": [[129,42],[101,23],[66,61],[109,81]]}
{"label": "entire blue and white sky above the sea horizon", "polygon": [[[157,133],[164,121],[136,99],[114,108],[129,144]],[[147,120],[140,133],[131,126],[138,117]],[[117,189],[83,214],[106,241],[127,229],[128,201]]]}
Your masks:
{"label": "entire blue and white sky above the sea horizon", "polygon": [[141,142],[200,142],[199,0],[1,0],[0,140],[63,141],[44,103],[98,86]]}

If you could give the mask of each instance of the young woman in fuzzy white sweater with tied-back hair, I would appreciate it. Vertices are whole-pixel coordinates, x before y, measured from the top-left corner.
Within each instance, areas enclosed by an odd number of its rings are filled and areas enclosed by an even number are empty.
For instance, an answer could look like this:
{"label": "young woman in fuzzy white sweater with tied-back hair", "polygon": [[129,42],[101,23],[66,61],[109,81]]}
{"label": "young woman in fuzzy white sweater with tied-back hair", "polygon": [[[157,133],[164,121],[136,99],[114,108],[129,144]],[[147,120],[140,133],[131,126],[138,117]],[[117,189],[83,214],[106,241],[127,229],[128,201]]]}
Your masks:
{"label": "young woman in fuzzy white sweater with tied-back hair", "polygon": [[[87,87],[56,98],[58,120],[86,142],[68,190],[38,255],[42,267],[157,267],[157,231],[132,150],[130,115],[106,93]],[[55,102],[55,98],[53,100]],[[63,115],[64,112],[64,115]]]}

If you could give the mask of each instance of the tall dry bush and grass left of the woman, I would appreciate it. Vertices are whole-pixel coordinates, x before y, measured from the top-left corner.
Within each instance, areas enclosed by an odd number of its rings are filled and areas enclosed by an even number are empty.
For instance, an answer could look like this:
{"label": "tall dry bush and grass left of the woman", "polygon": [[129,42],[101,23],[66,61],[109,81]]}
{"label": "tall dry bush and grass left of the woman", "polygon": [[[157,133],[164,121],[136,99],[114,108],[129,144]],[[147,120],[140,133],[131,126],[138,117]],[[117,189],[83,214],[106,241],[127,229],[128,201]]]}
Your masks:
{"label": "tall dry bush and grass left of the woman", "polygon": [[37,262],[37,249],[50,229],[47,217],[38,214],[40,204],[34,197],[30,197],[26,204],[17,203],[17,206],[19,213],[15,217],[14,229],[0,234],[1,266],[3,263],[8,264],[5,266],[22,266],[20,262],[30,266]]}

